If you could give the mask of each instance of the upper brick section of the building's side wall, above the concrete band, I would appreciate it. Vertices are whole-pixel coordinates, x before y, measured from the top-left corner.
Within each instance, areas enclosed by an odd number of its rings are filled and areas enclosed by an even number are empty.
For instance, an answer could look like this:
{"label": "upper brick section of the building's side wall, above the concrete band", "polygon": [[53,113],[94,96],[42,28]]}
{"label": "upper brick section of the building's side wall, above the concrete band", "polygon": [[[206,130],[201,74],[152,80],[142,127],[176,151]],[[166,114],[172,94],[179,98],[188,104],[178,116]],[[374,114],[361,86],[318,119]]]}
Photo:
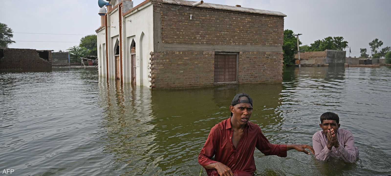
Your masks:
{"label": "upper brick section of the building's side wall, above the concrete band", "polygon": [[163,43],[283,45],[282,17],[178,6],[155,5]]}

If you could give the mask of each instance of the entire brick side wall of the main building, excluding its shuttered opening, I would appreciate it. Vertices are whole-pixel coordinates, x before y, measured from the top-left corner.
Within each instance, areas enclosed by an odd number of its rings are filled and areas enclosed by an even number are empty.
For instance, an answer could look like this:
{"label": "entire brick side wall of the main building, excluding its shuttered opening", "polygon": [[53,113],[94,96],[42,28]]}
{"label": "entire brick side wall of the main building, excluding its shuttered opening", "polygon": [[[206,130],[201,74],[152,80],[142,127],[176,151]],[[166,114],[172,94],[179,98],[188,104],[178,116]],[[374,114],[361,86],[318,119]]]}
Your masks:
{"label": "entire brick side wall of the main building, excluding its shuttered opening", "polygon": [[[190,20],[192,14],[192,20]],[[152,88],[214,85],[215,52],[238,53],[239,83],[280,83],[283,17],[154,2]]]}

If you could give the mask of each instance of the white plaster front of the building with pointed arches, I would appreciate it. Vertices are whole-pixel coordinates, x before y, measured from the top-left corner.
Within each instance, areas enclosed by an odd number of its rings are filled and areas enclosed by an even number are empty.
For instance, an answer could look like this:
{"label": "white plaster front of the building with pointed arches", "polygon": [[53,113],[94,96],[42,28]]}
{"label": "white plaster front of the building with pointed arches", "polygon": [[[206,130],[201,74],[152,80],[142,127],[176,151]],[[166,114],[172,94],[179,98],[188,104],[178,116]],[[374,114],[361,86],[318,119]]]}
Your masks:
{"label": "white plaster front of the building with pointed arches", "polygon": [[[119,1],[119,5],[118,4]],[[136,85],[150,87],[149,58],[153,51],[153,5],[151,2],[142,4],[133,9],[130,13],[125,14],[133,7],[133,2],[124,0],[123,3],[131,3],[122,5],[121,1],[112,1],[113,9],[106,13],[107,29],[102,26],[97,29],[97,48],[99,61],[99,76],[106,79],[116,79],[116,60],[115,52],[117,44],[121,48],[119,53],[122,65],[122,75],[118,78],[122,83],[132,82],[132,63],[131,63],[131,45],[136,45]],[[128,9],[124,9],[127,7]],[[129,8],[130,7],[130,8]],[[122,9],[119,9],[122,8]],[[121,11],[122,10],[122,11]],[[120,11],[122,14],[120,14]],[[120,18],[122,26],[120,27]],[[106,34],[107,30],[107,34]],[[106,43],[107,38],[107,43]],[[118,40],[118,41],[117,41]],[[122,44],[122,45],[121,45]],[[107,47],[106,47],[107,46]],[[107,48],[107,59],[106,59]],[[108,60],[108,61],[106,61]],[[107,67],[108,66],[108,69]],[[107,73],[108,70],[108,73]]]}

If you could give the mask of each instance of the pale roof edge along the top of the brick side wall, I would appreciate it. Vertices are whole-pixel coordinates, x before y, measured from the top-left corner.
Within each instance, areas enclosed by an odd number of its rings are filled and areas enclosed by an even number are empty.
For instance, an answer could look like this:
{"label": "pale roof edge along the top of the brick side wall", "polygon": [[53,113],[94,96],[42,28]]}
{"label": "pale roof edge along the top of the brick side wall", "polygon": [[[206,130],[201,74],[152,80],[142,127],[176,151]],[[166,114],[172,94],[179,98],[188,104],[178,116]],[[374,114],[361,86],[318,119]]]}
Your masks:
{"label": "pale roof edge along the top of the brick side wall", "polygon": [[[179,5],[190,5],[192,6],[195,1],[185,1],[185,0],[162,0],[163,3],[167,4],[179,4]],[[201,5],[198,5],[197,7],[205,7],[205,8],[213,8],[213,9],[221,9],[221,10],[229,10],[229,11],[239,11],[239,12],[246,12],[246,13],[257,13],[257,14],[265,14],[265,15],[274,15],[274,16],[286,16],[285,14],[281,12],[275,12],[275,11],[266,11],[266,10],[260,10],[260,9],[252,9],[247,7],[236,7],[236,6],[230,6],[230,5],[221,5],[221,4],[210,4],[210,3],[204,3]]]}

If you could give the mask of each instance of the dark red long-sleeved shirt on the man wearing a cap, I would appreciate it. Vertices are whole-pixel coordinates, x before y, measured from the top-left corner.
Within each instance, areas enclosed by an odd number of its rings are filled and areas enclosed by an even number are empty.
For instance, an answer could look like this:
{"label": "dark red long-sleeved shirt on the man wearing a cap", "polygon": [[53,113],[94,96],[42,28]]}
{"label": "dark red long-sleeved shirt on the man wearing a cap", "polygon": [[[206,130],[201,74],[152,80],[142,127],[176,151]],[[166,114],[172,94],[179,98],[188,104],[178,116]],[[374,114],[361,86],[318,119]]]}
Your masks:
{"label": "dark red long-sleeved shirt on the man wearing a cap", "polygon": [[[261,128],[252,122],[247,123],[237,148],[232,143],[232,135],[231,117],[210,129],[208,139],[198,156],[199,164],[205,167],[211,163],[221,162],[230,167],[232,172],[251,175],[256,169],[255,147],[265,155],[287,156],[287,145],[270,144],[262,134]],[[215,158],[211,160],[213,156]],[[210,174],[212,171],[207,172]]]}

